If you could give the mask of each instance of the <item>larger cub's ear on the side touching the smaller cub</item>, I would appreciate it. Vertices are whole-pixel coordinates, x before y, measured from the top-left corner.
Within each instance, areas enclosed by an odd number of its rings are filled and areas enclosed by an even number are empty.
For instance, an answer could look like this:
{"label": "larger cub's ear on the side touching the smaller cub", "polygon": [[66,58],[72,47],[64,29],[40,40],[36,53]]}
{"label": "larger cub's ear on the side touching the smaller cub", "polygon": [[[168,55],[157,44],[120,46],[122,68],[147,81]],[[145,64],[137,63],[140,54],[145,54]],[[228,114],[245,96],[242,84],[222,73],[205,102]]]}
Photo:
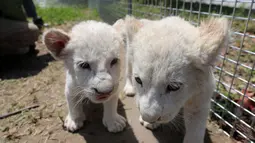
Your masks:
{"label": "larger cub's ear on the side touching the smaller cub", "polygon": [[144,26],[144,22],[136,19],[133,16],[127,15],[125,17],[127,38],[129,41],[133,40],[134,35]]}

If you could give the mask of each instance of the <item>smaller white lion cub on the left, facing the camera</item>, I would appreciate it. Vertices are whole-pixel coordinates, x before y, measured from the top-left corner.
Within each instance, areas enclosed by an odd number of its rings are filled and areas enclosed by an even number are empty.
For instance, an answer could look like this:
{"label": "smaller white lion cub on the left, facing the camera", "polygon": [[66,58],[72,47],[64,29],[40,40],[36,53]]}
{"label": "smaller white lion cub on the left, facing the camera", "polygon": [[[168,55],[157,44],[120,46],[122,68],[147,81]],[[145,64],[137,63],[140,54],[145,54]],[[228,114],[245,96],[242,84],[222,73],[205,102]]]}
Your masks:
{"label": "smaller white lion cub on the left, facing the camera", "polygon": [[126,119],[117,113],[123,37],[116,25],[96,21],[81,22],[70,33],[50,29],[43,42],[51,54],[64,62],[65,95],[68,116],[64,126],[75,131],[83,126],[86,116],[81,100],[103,103],[103,124],[109,132],[122,131]]}

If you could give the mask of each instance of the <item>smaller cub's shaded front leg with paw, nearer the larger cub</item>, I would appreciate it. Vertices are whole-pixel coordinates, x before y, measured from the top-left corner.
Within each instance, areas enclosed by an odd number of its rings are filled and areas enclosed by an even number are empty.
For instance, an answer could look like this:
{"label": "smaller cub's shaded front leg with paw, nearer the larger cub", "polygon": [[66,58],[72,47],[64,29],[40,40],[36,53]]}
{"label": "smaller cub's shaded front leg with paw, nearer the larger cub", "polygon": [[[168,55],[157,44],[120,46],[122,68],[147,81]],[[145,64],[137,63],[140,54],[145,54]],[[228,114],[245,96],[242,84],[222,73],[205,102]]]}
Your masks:
{"label": "smaller cub's shaded front leg with paw, nearer the larger cub", "polygon": [[126,119],[117,113],[118,96],[112,95],[113,97],[103,103],[104,114],[103,124],[109,132],[120,132],[126,127]]}

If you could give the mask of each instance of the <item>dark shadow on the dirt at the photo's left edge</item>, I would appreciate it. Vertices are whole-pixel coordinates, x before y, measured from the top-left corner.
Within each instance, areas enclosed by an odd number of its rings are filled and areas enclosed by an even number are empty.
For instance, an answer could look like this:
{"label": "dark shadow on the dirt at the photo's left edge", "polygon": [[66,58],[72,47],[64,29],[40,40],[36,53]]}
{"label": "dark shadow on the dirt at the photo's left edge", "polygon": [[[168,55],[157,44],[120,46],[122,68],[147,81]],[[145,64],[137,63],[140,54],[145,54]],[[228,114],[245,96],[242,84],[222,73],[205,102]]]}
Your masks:
{"label": "dark shadow on the dirt at the photo's left edge", "polygon": [[53,58],[50,54],[8,55],[0,57],[0,79],[18,79],[38,74]]}

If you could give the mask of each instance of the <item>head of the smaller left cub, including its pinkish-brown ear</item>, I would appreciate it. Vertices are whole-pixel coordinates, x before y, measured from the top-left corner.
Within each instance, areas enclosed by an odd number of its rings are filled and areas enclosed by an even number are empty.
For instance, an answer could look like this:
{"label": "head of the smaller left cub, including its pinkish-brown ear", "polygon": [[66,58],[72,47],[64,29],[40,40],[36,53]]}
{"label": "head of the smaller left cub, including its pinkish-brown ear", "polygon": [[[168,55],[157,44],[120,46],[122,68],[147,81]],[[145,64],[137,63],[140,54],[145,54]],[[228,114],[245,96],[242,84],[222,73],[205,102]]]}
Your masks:
{"label": "head of the smaller left cub, including its pinkish-brown ear", "polygon": [[70,33],[46,31],[43,42],[53,57],[64,62],[74,92],[84,93],[95,103],[117,92],[124,43],[115,26],[81,22]]}

